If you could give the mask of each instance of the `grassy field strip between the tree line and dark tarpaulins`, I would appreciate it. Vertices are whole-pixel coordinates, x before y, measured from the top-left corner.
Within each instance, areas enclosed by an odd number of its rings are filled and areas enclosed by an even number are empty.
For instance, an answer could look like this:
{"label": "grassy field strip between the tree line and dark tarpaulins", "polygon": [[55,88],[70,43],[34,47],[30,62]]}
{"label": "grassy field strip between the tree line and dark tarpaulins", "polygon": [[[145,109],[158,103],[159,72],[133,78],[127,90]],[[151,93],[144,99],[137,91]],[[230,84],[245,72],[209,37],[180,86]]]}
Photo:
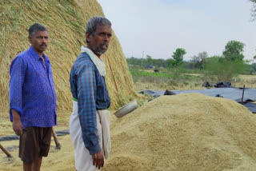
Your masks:
{"label": "grassy field strip between the tree line and dark tarpaulins", "polygon": [[[214,84],[217,81],[205,77],[203,73],[187,73],[189,70],[166,70],[162,69],[159,73],[153,70],[142,70],[141,68],[130,67],[130,74],[134,80],[135,88],[138,91],[144,89],[205,89],[202,87],[203,82]],[[256,88],[256,75],[238,75],[233,86]]]}

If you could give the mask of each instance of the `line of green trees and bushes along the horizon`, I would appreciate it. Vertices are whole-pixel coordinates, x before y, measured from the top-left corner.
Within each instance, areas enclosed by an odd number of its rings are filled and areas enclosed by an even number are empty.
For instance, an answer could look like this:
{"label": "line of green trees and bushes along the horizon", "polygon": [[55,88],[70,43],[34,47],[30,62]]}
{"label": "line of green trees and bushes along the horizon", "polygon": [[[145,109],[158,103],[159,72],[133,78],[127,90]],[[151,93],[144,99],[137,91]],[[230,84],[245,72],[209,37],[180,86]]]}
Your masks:
{"label": "line of green trees and bushes along the horizon", "polygon": [[229,80],[235,74],[253,74],[256,71],[256,55],[253,60],[244,60],[242,54],[245,44],[238,41],[226,43],[225,50],[220,56],[211,56],[207,52],[201,52],[184,61],[186,50],[178,48],[168,59],[154,59],[150,55],[146,58],[127,58],[130,66],[146,67],[154,66],[155,68],[175,69],[183,68],[186,70],[197,70],[205,74],[214,75],[216,78]]}

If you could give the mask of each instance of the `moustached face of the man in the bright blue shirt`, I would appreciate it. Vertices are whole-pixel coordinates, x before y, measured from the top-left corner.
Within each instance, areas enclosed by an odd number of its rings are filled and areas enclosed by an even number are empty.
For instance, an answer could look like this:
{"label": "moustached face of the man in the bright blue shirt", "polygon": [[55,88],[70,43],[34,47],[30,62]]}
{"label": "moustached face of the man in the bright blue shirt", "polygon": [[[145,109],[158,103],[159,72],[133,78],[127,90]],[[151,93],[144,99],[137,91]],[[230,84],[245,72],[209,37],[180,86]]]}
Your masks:
{"label": "moustached face of the man in the bright blue shirt", "polygon": [[31,46],[41,54],[47,49],[48,44],[48,32],[47,31],[38,31],[29,36]]}

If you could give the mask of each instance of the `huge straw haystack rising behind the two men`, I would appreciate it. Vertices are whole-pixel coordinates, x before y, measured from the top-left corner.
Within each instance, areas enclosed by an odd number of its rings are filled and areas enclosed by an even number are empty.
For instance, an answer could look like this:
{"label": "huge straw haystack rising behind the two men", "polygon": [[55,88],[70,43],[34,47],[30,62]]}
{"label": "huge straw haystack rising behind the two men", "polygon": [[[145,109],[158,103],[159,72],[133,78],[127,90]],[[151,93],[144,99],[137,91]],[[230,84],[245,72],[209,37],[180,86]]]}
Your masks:
{"label": "huge straw haystack rising behind the two men", "polygon": [[[15,56],[29,48],[28,27],[34,22],[46,26],[50,44],[46,55],[50,57],[58,111],[71,111],[69,74],[80,46],[85,45],[86,22],[96,15],[104,16],[96,0],[18,0],[0,1],[0,112],[9,109],[9,69]],[[106,85],[117,109],[136,95],[126,58],[113,33],[109,51],[103,55],[106,62]]]}

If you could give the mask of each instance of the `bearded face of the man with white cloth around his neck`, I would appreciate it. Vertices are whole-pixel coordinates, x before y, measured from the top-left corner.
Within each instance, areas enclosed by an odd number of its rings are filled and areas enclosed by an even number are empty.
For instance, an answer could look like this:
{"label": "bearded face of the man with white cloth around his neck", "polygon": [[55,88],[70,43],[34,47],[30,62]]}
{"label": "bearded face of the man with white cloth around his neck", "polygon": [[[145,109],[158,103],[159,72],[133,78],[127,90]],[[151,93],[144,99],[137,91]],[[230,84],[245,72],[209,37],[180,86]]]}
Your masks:
{"label": "bearded face of the man with white cloth around his neck", "polygon": [[94,52],[98,57],[104,54],[109,46],[112,36],[111,26],[96,26],[94,34],[86,33],[87,47]]}

